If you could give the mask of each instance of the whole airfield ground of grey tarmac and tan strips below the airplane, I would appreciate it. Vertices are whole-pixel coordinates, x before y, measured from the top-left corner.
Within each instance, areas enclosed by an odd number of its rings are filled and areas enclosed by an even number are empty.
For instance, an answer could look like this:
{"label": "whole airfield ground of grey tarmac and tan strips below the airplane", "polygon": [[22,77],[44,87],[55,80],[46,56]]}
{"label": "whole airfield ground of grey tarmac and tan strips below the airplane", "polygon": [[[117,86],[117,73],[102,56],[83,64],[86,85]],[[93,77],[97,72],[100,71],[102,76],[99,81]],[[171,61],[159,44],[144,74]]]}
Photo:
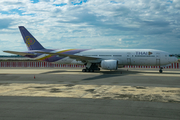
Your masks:
{"label": "whole airfield ground of grey tarmac and tan strips below the airplane", "polygon": [[174,69],[3,68],[0,119],[180,119],[179,78]]}

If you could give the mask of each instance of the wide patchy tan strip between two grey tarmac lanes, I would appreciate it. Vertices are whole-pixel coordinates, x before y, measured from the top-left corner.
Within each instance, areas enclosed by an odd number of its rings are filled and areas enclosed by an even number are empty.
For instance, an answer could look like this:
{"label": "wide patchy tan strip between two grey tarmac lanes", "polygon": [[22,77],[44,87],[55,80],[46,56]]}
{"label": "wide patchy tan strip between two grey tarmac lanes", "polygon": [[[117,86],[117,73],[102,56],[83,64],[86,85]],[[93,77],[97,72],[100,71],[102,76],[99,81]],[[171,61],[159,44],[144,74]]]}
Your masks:
{"label": "wide patchy tan strip between two grey tarmac lanes", "polygon": [[0,96],[124,99],[180,103],[180,88],[119,85],[1,83]]}

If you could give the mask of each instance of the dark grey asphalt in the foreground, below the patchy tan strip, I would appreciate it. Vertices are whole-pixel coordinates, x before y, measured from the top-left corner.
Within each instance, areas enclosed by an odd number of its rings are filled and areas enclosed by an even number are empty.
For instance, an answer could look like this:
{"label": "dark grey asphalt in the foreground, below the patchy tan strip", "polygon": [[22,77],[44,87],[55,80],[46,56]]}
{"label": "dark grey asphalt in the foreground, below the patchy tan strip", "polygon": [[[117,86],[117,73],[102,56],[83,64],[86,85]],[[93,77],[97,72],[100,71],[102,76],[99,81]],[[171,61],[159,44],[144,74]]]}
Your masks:
{"label": "dark grey asphalt in the foreground, below the patchy tan strip", "polygon": [[180,104],[46,97],[0,97],[1,120],[179,120]]}

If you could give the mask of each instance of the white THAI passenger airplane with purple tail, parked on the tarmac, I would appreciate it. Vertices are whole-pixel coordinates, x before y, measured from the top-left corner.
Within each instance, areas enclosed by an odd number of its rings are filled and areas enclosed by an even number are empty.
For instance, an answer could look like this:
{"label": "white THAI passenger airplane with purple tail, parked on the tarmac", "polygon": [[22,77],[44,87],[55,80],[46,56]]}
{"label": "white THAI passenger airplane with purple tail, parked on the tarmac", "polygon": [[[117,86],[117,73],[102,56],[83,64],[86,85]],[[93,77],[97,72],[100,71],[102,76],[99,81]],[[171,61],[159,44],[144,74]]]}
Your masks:
{"label": "white THAI passenger airplane with purple tail, parked on the tarmac", "polygon": [[176,56],[156,49],[46,49],[24,26],[19,26],[19,30],[28,51],[3,52],[56,64],[85,65],[82,72],[94,72],[100,67],[117,70],[125,65],[146,65],[160,66],[159,72],[162,73],[163,67],[178,61]]}

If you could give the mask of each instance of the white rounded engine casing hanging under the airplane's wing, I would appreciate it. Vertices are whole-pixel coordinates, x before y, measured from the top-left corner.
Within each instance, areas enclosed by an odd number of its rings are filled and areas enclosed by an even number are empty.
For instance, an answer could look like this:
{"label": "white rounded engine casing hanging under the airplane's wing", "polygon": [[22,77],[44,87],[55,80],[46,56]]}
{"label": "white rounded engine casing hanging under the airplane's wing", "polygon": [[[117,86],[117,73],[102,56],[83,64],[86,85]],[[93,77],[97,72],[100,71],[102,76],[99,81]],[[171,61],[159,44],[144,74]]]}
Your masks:
{"label": "white rounded engine casing hanging under the airplane's wing", "polygon": [[118,61],[117,60],[102,60],[101,67],[106,70],[117,70]]}

